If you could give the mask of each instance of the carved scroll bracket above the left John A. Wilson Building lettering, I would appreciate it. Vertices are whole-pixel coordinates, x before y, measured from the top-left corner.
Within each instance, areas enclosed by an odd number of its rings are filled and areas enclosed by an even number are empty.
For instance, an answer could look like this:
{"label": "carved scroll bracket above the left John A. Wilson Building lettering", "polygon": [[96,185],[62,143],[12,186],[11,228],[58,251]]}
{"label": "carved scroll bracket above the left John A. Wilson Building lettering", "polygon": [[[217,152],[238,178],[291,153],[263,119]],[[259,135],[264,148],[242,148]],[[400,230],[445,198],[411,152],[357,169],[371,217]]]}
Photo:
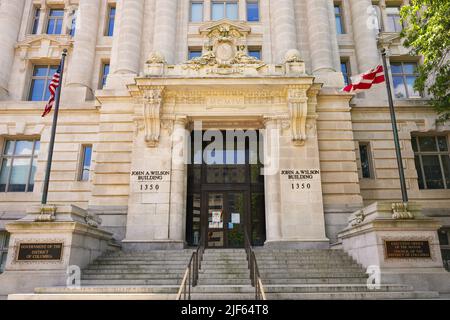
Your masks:
{"label": "carved scroll bracket above the left John A. Wilson Building lettering", "polygon": [[153,87],[144,91],[143,117],[145,128],[145,141],[151,148],[159,143],[161,134],[161,105],[163,87]]}

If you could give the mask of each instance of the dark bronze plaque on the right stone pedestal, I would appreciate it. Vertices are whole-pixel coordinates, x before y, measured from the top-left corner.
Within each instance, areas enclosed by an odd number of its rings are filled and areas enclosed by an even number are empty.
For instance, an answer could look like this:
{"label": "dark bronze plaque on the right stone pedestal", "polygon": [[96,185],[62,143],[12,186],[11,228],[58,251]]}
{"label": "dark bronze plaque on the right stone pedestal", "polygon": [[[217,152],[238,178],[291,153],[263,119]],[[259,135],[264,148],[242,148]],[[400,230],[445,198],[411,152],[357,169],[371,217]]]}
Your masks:
{"label": "dark bronze plaque on the right stone pedestal", "polygon": [[431,258],[428,241],[385,241],[386,258]]}

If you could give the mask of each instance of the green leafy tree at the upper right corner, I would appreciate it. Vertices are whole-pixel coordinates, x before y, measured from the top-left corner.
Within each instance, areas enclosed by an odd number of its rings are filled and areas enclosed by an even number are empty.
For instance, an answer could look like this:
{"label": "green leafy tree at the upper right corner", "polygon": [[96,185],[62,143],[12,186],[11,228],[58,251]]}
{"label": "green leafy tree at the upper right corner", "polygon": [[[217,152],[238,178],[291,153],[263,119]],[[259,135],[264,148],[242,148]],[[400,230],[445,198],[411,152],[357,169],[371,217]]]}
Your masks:
{"label": "green leafy tree at the upper right corner", "polygon": [[424,57],[415,89],[431,96],[440,121],[450,120],[450,1],[411,0],[400,14],[404,45]]}

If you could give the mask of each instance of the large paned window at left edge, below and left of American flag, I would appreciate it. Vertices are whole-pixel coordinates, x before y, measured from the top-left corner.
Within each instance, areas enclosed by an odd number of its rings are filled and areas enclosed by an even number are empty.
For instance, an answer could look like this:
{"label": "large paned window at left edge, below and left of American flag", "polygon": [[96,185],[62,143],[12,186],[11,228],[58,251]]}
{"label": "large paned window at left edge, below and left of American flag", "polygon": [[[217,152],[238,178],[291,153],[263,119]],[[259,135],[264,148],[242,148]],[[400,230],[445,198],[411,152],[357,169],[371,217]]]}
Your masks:
{"label": "large paned window at left edge, below and left of American flag", "polygon": [[32,192],[39,140],[6,140],[1,156],[0,192]]}

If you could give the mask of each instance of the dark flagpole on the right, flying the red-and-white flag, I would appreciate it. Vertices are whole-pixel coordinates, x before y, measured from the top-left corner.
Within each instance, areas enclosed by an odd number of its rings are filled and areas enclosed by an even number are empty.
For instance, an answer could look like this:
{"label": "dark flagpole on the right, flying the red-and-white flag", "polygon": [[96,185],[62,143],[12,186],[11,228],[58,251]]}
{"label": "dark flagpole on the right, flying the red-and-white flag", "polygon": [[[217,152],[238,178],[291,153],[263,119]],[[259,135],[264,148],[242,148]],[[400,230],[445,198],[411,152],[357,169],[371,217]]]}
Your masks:
{"label": "dark flagpole on the right, flying the red-and-white flag", "polygon": [[383,48],[381,50],[381,57],[383,59],[384,74],[385,74],[385,78],[386,78],[386,89],[387,89],[388,101],[389,101],[389,110],[391,112],[391,123],[392,123],[392,130],[394,133],[394,144],[395,144],[395,152],[397,154],[397,165],[398,165],[398,173],[400,176],[400,187],[402,190],[402,200],[403,200],[403,203],[408,203],[408,191],[406,189],[405,172],[404,172],[404,168],[403,168],[402,152],[401,152],[401,148],[400,148],[400,140],[398,137],[397,119],[395,116],[394,100],[392,99],[391,79],[389,77],[386,55],[387,55],[386,49]]}

